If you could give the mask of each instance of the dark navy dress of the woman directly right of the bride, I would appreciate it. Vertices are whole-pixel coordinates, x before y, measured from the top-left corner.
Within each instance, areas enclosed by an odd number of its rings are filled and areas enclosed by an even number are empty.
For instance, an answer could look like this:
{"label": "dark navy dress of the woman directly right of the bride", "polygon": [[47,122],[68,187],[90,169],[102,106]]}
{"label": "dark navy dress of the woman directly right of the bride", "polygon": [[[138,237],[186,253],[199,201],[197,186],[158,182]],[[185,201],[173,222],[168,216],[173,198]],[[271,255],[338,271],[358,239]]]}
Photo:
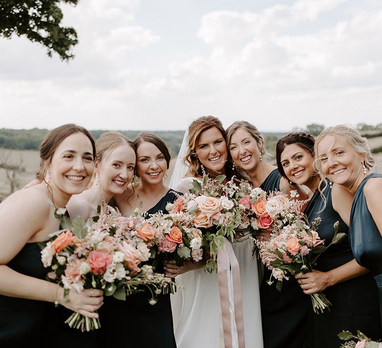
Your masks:
{"label": "dark navy dress of the woman directly right of the bride", "polygon": [[[260,187],[269,192],[280,190],[281,175],[272,171]],[[271,271],[264,268],[260,287],[264,348],[302,348],[308,319],[309,296],[305,295],[293,276],[283,280],[281,291],[276,281],[269,285]]]}

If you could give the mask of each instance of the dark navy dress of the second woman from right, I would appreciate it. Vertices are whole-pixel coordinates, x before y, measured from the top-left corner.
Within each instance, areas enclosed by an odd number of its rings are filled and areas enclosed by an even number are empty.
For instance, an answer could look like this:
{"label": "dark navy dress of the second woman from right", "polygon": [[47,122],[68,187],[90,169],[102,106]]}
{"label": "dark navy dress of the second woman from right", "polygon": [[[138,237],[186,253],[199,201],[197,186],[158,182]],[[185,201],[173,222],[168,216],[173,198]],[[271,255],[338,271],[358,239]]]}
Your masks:
{"label": "dark navy dress of the second woman from right", "polygon": [[[339,221],[338,232],[348,234],[349,228],[334,210],[332,190],[322,184],[322,194],[317,189],[305,209],[309,222],[321,217],[317,233],[324,245],[329,245],[334,237],[334,223]],[[354,259],[348,236],[335,245],[331,245],[317,259],[314,269],[327,272]],[[338,348],[343,341],[338,334],[344,330],[356,333],[360,330],[373,338],[381,337],[377,286],[373,276],[368,273],[328,287],[323,291],[331,302],[330,311],[315,314],[310,308],[305,348]]]}

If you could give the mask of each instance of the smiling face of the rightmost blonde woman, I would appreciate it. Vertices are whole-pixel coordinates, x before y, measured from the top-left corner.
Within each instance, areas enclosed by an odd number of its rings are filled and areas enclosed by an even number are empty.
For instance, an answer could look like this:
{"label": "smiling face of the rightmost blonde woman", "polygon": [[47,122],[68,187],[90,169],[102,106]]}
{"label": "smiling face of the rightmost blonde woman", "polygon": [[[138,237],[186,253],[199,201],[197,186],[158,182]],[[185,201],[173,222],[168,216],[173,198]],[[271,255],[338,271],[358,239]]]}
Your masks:
{"label": "smiling face of the rightmost blonde woman", "polygon": [[365,156],[356,152],[343,135],[329,134],[317,146],[322,173],[329,180],[351,189],[364,177]]}

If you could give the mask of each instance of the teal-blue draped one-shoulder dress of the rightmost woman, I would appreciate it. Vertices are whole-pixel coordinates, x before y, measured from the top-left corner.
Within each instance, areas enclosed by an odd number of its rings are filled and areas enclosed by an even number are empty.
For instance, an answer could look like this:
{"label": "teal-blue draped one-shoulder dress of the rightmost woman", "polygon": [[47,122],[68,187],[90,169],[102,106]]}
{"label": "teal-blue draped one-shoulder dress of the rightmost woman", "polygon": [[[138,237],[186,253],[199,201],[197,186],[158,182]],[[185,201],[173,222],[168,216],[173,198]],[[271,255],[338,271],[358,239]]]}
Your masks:
{"label": "teal-blue draped one-shoulder dress of the rightmost woman", "polygon": [[[349,237],[354,258],[361,266],[370,269],[377,283],[382,327],[382,236],[369,211],[364,194],[365,184],[374,177],[382,177],[382,174],[369,174],[362,180],[354,195]],[[381,210],[381,206],[379,208]],[[367,332],[365,334],[367,335]]]}

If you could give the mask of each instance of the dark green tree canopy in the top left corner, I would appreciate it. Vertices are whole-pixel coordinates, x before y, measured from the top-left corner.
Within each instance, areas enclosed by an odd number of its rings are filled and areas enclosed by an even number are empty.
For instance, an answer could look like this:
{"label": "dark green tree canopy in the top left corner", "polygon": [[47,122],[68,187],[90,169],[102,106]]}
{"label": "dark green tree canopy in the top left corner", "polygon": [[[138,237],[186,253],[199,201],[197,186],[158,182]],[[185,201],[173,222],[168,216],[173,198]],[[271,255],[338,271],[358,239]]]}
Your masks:
{"label": "dark green tree canopy in the top left corner", "polygon": [[61,60],[74,55],[71,49],[78,43],[77,33],[71,27],[60,25],[63,17],[59,2],[77,5],[78,0],[0,0],[0,35],[25,35],[32,42],[47,48],[47,54],[59,54]]}

